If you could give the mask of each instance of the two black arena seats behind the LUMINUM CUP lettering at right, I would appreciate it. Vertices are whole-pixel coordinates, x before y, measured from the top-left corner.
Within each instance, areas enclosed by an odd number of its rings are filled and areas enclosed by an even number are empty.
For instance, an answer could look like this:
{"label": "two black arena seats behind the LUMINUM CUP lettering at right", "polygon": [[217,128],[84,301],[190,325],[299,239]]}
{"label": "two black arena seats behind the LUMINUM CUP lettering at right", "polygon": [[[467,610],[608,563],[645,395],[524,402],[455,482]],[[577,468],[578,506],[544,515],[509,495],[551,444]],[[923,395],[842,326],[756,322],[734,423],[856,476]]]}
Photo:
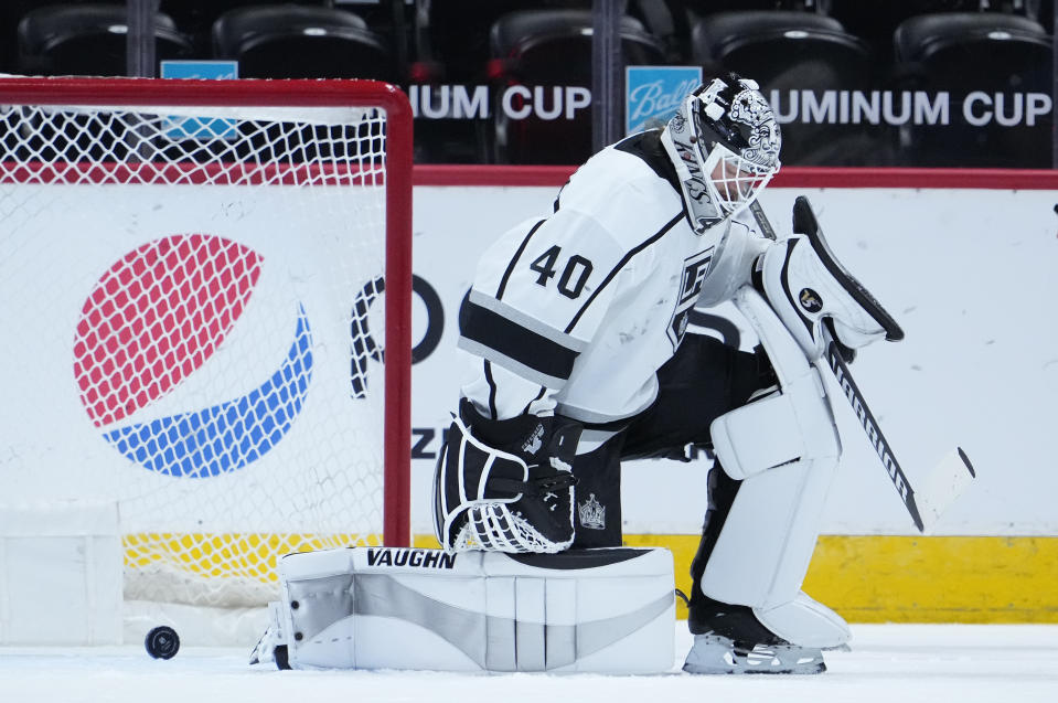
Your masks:
{"label": "two black arena seats behind the LUMINUM CUP lettering at right", "polygon": [[[888,92],[901,103],[893,111],[906,113],[905,95],[913,103],[907,109],[917,110],[916,96],[944,93],[948,119],[963,125],[916,124],[918,115],[904,124],[857,123],[855,114],[847,123],[841,114],[836,123],[794,119],[783,126],[788,163],[1050,167],[1049,113],[1046,119],[1016,130],[998,119],[980,125],[965,125],[962,119],[964,100],[975,92],[988,99],[1002,93],[1007,102],[1020,100],[1023,114],[1030,99],[1026,96],[1052,93],[1051,36],[1038,21],[1022,14],[915,14],[900,21],[891,42],[880,49],[849,33],[831,15],[729,11],[694,24],[692,51],[693,63],[755,76],[762,87],[781,96],[800,95],[806,88],[861,95]],[[795,100],[789,103],[779,106],[780,111],[798,117]],[[1005,114],[1015,114],[1015,106],[1005,107]],[[802,103],[802,120],[805,109]]]}

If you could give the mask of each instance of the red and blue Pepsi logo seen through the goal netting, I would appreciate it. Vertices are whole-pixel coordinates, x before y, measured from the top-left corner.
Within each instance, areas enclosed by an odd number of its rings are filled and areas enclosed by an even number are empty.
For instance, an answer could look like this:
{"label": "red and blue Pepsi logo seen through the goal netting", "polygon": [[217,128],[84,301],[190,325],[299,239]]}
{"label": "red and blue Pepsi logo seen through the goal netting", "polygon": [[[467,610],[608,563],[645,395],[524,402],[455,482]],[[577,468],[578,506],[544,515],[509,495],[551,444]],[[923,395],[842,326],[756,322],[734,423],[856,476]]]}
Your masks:
{"label": "red and blue Pepsi logo seen through the goal netting", "polygon": [[301,412],[312,333],[299,303],[280,368],[248,393],[137,422],[214,358],[243,317],[264,258],[207,234],[170,235],[117,260],[85,300],[74,341],[81,402],[103,437],[167,476],[209,478],[275,447]]}

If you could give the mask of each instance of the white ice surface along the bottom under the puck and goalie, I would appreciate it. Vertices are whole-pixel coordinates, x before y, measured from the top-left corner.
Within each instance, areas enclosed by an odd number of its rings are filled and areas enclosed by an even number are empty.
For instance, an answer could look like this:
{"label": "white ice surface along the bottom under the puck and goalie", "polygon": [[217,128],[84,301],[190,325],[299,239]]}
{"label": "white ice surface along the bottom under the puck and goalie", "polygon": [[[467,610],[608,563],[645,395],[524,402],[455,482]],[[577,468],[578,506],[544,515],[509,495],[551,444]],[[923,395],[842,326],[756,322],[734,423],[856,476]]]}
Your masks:
{"label": "white ice surface along the bottom under the puck and goalie", "polygon": [[277,671],[243,649],[184,648],[169,661],[142,647],[0,648],[10,703],[289,703],[541,701],[558,703],[1058,702],[1058,626],[854,625],[851,652],[810,677],[692,677],[676,625],[673,670],[652,677]]}

